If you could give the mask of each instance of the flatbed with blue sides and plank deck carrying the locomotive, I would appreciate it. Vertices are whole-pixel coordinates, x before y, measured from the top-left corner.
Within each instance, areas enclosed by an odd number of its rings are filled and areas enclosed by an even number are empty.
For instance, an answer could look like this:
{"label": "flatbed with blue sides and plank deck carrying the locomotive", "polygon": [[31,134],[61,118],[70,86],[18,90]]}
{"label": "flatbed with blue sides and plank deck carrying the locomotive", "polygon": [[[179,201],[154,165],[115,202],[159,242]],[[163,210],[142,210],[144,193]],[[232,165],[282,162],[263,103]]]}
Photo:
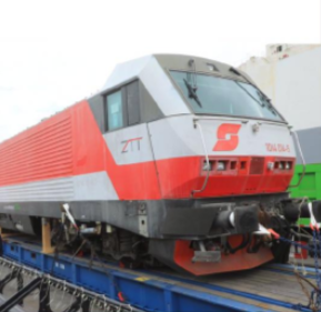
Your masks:
{"label": "flatbed with blue sides and plank deck carrying the locomotive", "polygon": [[[126,270],[66,254],[57,259],[14,239],[3,242],[3,256],[143,311],[311,311],[303,306],[309,300],[291,265],[194,278],[169,269]],[[307,272],[315,284],[314,270]],[[310,294],[311,286],[302,284]]]}

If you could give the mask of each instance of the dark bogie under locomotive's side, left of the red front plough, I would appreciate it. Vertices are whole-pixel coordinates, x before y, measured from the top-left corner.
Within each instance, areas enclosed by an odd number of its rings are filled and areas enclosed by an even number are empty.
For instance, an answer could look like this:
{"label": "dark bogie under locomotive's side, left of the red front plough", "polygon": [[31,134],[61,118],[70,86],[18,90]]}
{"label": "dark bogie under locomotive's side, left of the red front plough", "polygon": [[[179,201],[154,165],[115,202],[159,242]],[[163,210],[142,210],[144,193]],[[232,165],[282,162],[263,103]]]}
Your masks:
{"label": "dark bogie under locomotive's side, left of the red front plough", "polygon": [[128,268],[150,262],[148,240],[110,224],[91,222],[74,228],[69,221],[52,222],[52,242],[59,252],[96,260],[112,260]]}

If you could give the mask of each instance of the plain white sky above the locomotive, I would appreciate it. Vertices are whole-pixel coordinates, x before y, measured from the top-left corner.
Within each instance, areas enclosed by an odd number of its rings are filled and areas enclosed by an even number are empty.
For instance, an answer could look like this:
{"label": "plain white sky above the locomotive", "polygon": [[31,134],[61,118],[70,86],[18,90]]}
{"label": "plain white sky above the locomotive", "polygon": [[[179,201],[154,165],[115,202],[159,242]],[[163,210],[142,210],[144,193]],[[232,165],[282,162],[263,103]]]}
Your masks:
{"label": "plain white sky above the locomotive", "polygon": [[269,43],[320,43],[320,0],[0,0],[0,141],[153,52],[239,66]]}

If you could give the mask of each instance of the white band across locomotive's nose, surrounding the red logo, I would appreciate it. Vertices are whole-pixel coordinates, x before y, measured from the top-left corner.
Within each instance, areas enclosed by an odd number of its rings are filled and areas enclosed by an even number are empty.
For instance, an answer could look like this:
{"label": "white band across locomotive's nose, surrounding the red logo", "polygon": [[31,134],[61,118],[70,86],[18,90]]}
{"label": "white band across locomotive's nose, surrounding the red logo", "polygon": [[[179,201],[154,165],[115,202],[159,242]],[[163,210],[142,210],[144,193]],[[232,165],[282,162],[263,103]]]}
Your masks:
{"label": "white band across locomotive's nose, surrounding the red logo", "polygon": [[[199,129],[194,127],[195,115],[181,115],[162,119],[149,123],[152,138],[154,155],[157,160],[204,155],[205,151],[201,142]],[[209,155],[274,155],[274,157],[295,157],[293,140],[285,124],[273,124],[260,121],[259,131],[252,130],[255,120],[241,122],[235,118],[202,119],[197,121],[201,124],[207,153]],[[218,142],[218,128],[222,123],[241,124],[239,133],[239,144],[232,151],[213,151]],[[229,140],[229,135],[227,135]],[[268,150],[267,144],[277,147],[289,147],[289,150]]]}

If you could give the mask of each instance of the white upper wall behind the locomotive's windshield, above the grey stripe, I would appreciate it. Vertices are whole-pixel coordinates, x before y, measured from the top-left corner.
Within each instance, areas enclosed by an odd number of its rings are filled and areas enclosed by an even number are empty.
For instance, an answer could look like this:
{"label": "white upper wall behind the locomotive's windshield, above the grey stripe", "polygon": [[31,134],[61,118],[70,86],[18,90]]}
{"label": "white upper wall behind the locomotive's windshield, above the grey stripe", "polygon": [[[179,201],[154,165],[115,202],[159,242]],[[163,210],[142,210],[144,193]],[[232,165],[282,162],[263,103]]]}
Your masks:
{"label": "white upper wall behind the locomotive's windshield, above the grey stripe", "polygon": [[321,127],[321,46],[268,46],[267,58],[253,57],[239,68],[294,130]]}

